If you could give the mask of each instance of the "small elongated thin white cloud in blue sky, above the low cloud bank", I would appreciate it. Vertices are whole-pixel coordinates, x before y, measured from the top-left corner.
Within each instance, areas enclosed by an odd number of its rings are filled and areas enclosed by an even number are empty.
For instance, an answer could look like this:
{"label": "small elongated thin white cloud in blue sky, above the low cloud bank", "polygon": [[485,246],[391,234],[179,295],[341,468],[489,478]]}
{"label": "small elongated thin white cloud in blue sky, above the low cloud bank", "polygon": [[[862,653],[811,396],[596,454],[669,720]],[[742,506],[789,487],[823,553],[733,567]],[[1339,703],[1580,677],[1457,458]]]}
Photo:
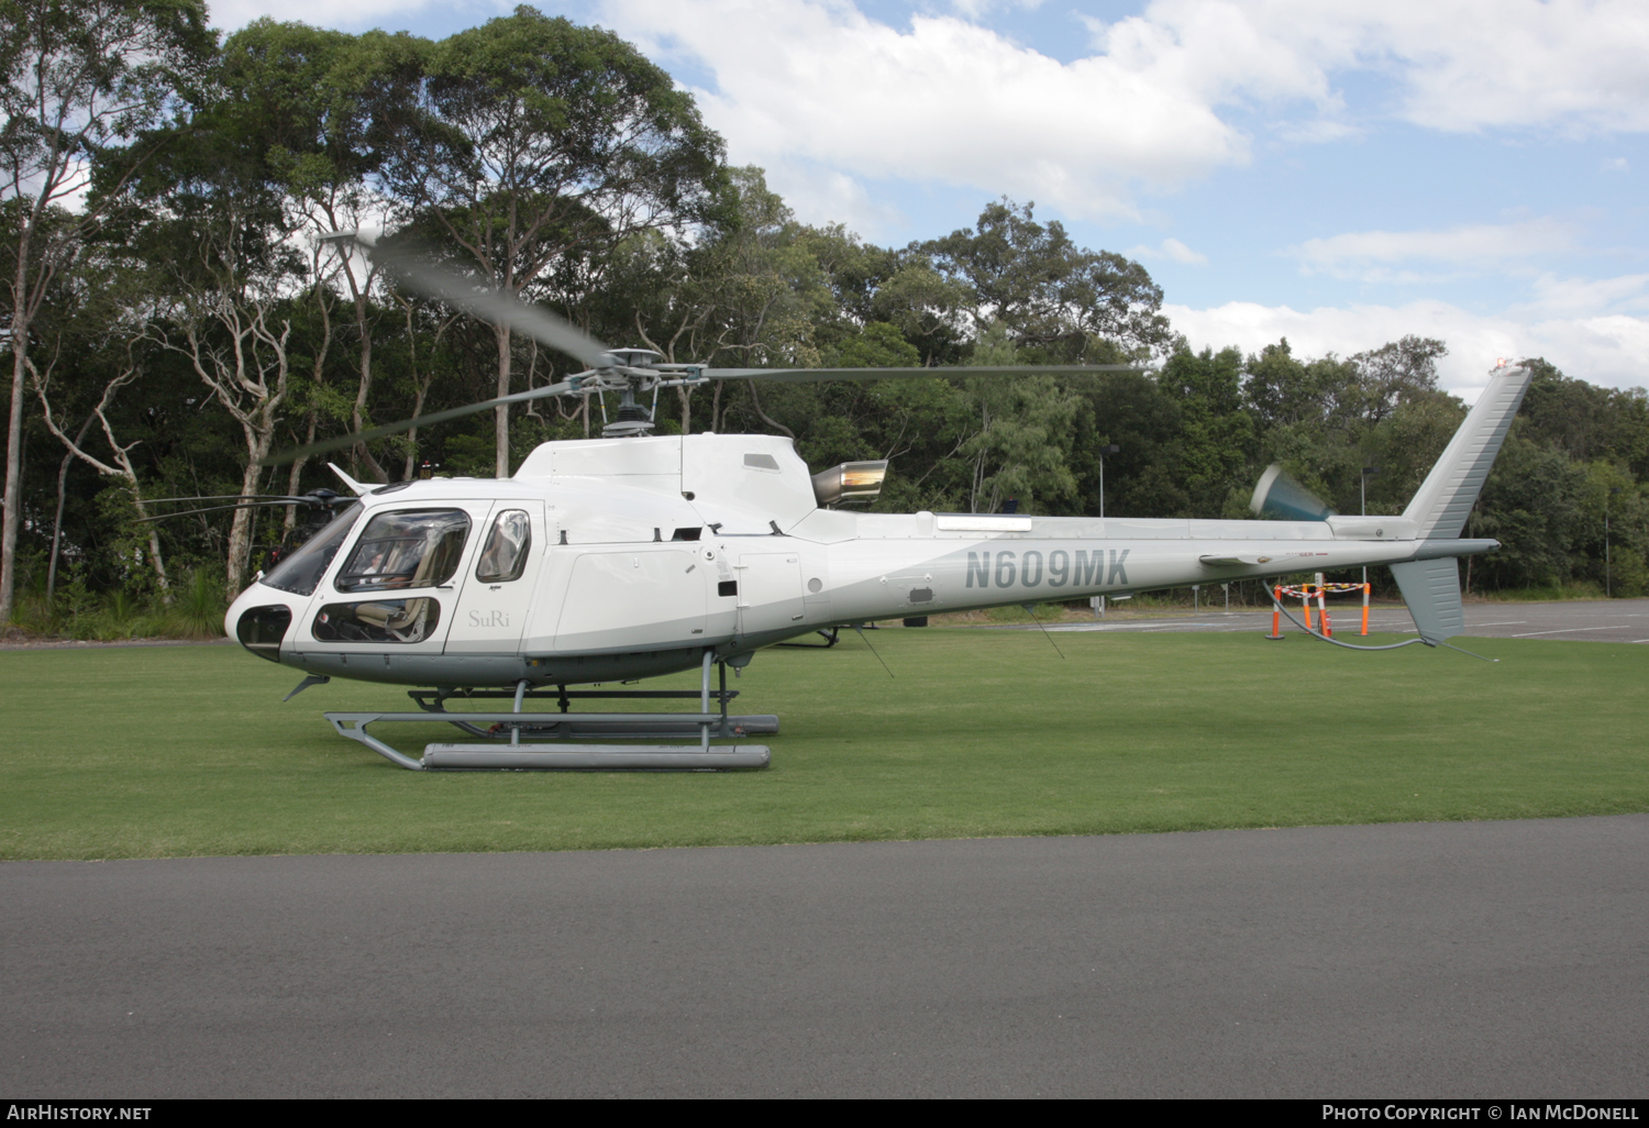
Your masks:
{"label": "small elongated thin white cloud in blue sky, above the low cloud bank", "polygon": [[1524,219],[1501,224],[1468,224],[1445,231],[1351,231],[1327,239],[1306,239],[1283,251],[1301,267],[1365,280],[1435,280],[1393,274],[1374,264],[1445,262],[1487,266],[1575,249],[1576,228],[1557,219]]}

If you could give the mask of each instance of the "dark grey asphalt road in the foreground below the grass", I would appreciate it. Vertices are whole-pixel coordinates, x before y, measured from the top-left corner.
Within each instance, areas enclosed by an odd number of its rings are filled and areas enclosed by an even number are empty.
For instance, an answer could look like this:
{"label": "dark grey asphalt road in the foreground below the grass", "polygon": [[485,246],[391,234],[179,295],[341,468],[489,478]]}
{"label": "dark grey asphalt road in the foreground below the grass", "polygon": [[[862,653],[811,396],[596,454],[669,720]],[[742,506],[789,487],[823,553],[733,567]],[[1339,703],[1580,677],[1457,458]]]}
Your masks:
{"label": "dark grey asphalt road in the foreground below the grass", "polygon": [[1642,1097],[1649,816],[0,864],[0,1095]]}

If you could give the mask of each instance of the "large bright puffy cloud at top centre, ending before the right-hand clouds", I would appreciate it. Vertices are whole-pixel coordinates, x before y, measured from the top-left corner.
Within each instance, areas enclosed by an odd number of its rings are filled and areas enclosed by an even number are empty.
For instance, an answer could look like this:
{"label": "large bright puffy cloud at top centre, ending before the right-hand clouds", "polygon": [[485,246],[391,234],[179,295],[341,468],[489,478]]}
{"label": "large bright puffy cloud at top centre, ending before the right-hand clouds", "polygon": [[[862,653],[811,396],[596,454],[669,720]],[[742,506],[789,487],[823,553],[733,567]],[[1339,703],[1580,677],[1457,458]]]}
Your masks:
{"label": "large bright puffy cloud at top centre, ending before the right-hand clouds", "polygon": [[900,31],[844,0],[608,0],[604,16],[655,58],[707,68],[716,89],[694,91],[706,120],[732,160],[770,170],[792,157],[1105,216],[1133,214],[1141,183],[1171,188],[1248,155],[1214,110],[1225,79],[1159,51],[1151,28],[1115,56],[1062,64],[965,20]]}

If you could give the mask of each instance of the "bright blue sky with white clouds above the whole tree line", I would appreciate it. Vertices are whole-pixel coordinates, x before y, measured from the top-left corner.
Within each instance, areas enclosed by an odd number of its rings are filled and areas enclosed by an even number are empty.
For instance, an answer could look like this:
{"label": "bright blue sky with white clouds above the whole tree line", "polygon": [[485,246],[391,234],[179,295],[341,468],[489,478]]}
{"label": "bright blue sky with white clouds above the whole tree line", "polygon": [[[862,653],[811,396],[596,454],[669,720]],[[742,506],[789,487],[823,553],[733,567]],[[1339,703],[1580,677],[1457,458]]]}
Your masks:
{"label": "bright blue sky with white clouds above the whole tree line", "polygon": [[[440,38],[498,0],[219,0]],[[1194,348],[1448,343],[1649,384],[1642,0],[572,0],[805,223],[890,246],[1036,204],[1143,262]]]}

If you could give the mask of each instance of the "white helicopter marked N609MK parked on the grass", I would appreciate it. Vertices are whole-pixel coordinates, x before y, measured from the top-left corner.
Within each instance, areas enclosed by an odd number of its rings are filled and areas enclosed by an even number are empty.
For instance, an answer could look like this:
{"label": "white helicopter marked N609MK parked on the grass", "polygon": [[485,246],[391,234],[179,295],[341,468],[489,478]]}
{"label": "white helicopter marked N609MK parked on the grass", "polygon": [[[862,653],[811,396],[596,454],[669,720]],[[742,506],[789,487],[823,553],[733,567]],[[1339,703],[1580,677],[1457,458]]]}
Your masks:
{"label": "white helicopter marked N609MK parked on the grass", "polygon": [[[355,501],[229,607],[224,627],[233,638],[307,674],[287,699],[331,678],[416,686],[419,711],[327,714],[341,736],[414,770],[762,767],[767,747],[709,744],[711,736],[777,731],[777,717],[727,714],[735,696],[726,688],[727,666],[737,671],[762,646],[879,618],[1385,564],[1418,627],[1410,642],[1446,645],[1464,630],[1456,557],[1499,546],[1459,534],[1530,381],[1525,368],[1496,369],[1402,516],[1334,515],[1275,467],[1255,490],[1255,511],[1294,519],[859,513],[834,506],[874,498],[886,462],[810,473],[790,439],[650,435],[651,417],[638,396],[712,379],[1022,376],[1130,366],[661,364],[646,350],[608,350],[543,310],[411,262],[397,266],[419,289],[508,320],[590,369],[279,460],[536,397],[617,391],[623,399],[602,439],[543,444],[508,480],[371,485],[333,467]],[[716,691],[712,666],[721,668]],[[567,689],[694,668],[701,670],[696,694]],[[449,712],[453,696],[513,698],[513,707]],[[526,701],[544,696],[557,712],[524,711]],[[567,711],[572,698],[638,696],[698,696],[699,712]],[[430,744],[414,759],[366,731],[406,721],[449,721],[482,742]],[[694,732],[699,739],[686,745],[571,742]]]}

